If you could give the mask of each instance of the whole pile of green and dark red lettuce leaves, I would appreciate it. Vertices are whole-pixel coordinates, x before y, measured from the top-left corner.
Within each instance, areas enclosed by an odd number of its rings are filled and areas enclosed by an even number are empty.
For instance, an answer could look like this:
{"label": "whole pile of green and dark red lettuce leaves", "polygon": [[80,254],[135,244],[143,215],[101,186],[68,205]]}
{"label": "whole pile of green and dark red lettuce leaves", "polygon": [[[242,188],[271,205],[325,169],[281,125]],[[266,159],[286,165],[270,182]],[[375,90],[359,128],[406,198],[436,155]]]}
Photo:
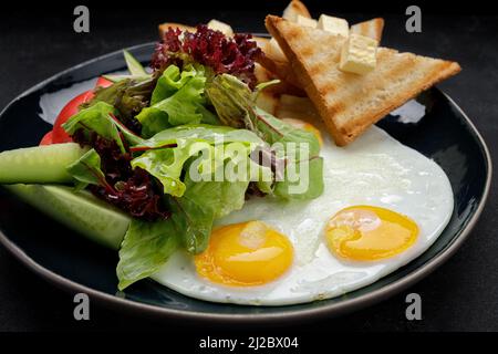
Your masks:
{"label": "whole pile of green and dark red lettuce leaves", "polygon": [[256,43],[198,31],[184,43],[168,32],[152,73],[125,51],[129,75],[107,75],[113,84],[62,124],[89,146],[66,166],[76,189],[133,217],[120,250],[120,290],[179,249],[203,252],[215,220],[241,209],[255,189],[283,199],[323,192],[317,137],[256,105],[274,83],[256,85]]}

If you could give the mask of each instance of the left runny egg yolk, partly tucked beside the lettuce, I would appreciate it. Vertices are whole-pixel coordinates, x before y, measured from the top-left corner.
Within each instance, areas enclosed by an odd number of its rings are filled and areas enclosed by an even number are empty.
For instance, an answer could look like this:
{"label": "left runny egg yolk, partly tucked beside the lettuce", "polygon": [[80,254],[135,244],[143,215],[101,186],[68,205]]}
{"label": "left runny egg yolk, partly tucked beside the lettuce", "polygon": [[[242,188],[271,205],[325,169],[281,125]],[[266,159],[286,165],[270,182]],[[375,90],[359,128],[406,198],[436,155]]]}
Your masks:
{"label": "left runny egg yolk, partly tucked beside the lettuce", "polygon": [[292,259],[287,237],[262,221],[248,221],[215,229],[195,264],[198,274],[215,283],[250,287],[276,280]]}

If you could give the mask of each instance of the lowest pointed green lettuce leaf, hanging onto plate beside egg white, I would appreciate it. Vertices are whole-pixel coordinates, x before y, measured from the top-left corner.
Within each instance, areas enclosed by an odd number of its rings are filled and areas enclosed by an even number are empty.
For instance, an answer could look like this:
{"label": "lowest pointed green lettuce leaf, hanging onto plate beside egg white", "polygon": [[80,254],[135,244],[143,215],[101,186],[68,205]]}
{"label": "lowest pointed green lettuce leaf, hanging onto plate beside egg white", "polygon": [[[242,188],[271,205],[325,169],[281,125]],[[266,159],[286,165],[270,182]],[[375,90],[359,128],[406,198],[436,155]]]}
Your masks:
{"label": "lowest pointed green lettuce leaf, hanging onto plate beside egg white", "polygon": [[157,272],[180,246],[181,233],[183,229],[177,229],[172,219],[154,222],[133,219],[120,249],[118,289]]}

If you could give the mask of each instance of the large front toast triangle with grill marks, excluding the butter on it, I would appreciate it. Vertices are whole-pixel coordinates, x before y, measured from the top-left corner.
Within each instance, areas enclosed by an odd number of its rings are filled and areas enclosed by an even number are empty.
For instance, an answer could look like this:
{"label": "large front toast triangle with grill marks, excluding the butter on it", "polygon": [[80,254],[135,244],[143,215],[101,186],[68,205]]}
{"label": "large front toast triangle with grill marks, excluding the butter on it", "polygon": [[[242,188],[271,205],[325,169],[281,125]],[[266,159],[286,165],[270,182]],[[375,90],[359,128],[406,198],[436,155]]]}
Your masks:
{"label": "large front toast triangle with grill marks, excluding the butter on it", "polygon": [[278,41],[335,144],[353,142],[367,127],[422,91],[460,71],[458,63],[380,48],[376,67],[357,75],[339,70],[346,39],[268,15]]}

